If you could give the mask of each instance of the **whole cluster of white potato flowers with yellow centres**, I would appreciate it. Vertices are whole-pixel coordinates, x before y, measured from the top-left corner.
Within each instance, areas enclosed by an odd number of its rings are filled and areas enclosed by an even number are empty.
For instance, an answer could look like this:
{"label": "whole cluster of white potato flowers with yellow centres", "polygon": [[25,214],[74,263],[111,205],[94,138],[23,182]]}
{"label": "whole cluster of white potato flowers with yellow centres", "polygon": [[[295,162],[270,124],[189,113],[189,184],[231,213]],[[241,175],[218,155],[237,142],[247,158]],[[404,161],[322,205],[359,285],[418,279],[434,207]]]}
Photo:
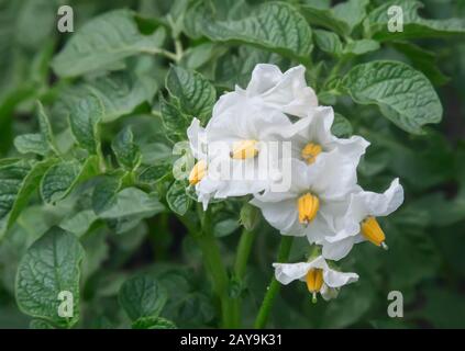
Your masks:
{"label": "whole cluster of white potato flowers with yellow centres", "polygon": [[198,120],[188,128],[197,159],[189,182],[198,200],[207,207],[212,199],[253,195],[251,203],[281,235],[321,246],[321,256],[308,262],[274,267],[280,283],[303,280],[323,298],[358,279],[330,269],[326,260],[344,258],[365,240],[387,248],[376,218],[403,201],[398,179],[381,194],[357,184],[369,143],[337,138],[333,121],[333,109],[318,105],[302,66],[283,73],[257,65],[245,90],[236,87],[220,98],[204,128]]}

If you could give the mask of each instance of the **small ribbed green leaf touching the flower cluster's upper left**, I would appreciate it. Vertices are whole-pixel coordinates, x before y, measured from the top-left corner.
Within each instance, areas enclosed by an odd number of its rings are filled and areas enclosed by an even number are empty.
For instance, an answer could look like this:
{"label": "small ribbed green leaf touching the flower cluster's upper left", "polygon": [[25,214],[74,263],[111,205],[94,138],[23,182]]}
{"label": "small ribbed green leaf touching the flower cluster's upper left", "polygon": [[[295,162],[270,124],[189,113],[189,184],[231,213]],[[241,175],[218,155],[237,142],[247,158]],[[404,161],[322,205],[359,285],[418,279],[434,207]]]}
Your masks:
{"label": "small ribbed green leaf touching the flower cluster's upper left", "polygon": [[185,114],[201,121],[211,115],[217,91],[199,72],[171,66],[166,77],[166,89],[179,102]]}

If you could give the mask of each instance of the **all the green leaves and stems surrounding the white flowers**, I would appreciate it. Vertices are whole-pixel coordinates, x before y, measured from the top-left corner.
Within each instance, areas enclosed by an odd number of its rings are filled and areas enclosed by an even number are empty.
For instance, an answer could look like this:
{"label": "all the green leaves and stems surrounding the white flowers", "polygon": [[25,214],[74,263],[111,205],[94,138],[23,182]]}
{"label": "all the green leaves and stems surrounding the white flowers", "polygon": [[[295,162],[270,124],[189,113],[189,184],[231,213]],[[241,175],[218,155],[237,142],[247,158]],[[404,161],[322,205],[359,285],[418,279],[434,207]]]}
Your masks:
{"label": "all the green leaves and stems surrounding the white flowers", "polygon": [[[75,0],[76,32],[59,34],[59,4],[0,1],[0,326],[463,327],[464,129],[445,123],[465,109],[463,5]],[[390,5],[402,32],[387,31]],[[199,158],[193,118],[207,125],[258,64],[305,67],[332,134],[370,141],[359,184],[405,186],[380,220],[390,250],[354,247],[337,270],[361,280],[332,302],[299,284],[277,298],[276,280],[265,294],[272,262],[313,258],[307,238],[279,245],[248,195],[204,210],[197,181],[173,173]],[[394,290],[403,319],[386,315]]]}

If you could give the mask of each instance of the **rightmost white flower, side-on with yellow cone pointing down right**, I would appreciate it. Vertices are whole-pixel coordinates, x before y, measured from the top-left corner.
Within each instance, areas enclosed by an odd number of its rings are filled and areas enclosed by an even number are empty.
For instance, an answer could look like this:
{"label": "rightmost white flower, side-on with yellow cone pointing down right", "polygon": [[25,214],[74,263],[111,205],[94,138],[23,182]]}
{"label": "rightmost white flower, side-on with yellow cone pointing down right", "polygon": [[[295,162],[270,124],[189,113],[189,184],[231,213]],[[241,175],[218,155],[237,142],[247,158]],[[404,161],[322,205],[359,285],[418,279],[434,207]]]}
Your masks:
{"label": "rightmost white flower, side-on with yellow cone pointing down right", "polygon": [[370,191],[352,193],[335,208],[335,218],[331,226],[335,235],[325,236],[319,244],[323,246],[323,256],[331,260],[344,258],[354,244],[368,240],[387,249],[386,236],[376,217],[395,212],[403,202],[403,189],[395,179],[381,194]]}

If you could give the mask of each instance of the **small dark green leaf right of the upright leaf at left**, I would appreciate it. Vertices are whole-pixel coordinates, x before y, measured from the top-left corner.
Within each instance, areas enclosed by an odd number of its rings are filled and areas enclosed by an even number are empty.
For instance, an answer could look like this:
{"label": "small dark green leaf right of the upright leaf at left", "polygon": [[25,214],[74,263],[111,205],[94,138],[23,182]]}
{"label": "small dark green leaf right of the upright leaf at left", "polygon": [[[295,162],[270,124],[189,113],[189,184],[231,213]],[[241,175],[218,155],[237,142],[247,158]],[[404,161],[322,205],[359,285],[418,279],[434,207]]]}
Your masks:
{"label": "small dark green leaf right of the upright leaf at left", "polygon": [[134,143],[131,127],[121,131],[111,144],[118,162],[128,170],[133,170],[141,165],[142,155],[139,146]]}

